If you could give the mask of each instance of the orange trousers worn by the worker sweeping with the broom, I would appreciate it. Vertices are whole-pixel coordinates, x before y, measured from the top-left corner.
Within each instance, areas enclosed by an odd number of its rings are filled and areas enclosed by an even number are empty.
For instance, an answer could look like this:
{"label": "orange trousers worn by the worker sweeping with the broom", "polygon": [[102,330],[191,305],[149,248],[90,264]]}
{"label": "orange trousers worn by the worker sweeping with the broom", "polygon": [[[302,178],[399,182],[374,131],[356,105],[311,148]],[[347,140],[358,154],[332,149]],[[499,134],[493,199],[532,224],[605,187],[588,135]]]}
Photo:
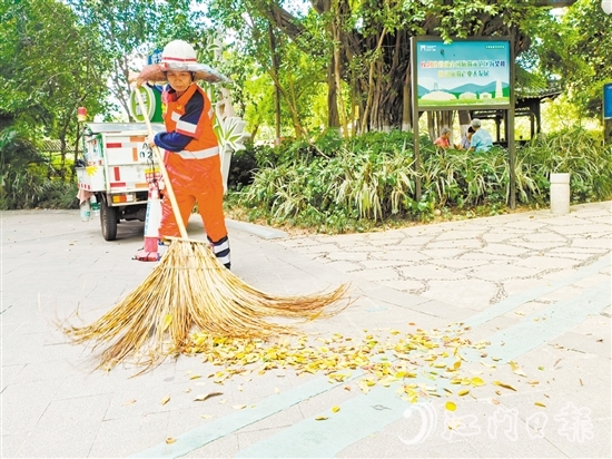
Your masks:
{"label": "orange trousers worn by the worker sweeping with the broom", "polygon": [[[205,159],[184,159],[180,155],[166,152],[164,164],[168,170],[185,226],[198,203],[206,235],[211,242],[227,236],[223,208],[224,185],[220,156]],[[164,194],[161,201],[161,224],[159,235],[180,237],[170,199]]]}

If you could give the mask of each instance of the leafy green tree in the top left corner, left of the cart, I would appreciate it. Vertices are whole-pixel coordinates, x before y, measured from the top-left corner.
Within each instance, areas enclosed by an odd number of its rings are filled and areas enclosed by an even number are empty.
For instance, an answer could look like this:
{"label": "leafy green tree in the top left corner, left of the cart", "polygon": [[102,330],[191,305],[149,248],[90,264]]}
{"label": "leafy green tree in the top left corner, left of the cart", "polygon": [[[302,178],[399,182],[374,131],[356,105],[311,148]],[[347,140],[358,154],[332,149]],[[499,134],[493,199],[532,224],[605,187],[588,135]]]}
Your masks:
{"label": "leafy green tree in the top left corner, left of the cart", "polygon": [[[32,141],[76,144],[78,107],[93,114],[105,107],[110,62],[96,32],[77,25],[72,10],[57,0],[6,1],[0,13],[0,114]],[[62,179],[68,153],[60,152],[56,165]]]}

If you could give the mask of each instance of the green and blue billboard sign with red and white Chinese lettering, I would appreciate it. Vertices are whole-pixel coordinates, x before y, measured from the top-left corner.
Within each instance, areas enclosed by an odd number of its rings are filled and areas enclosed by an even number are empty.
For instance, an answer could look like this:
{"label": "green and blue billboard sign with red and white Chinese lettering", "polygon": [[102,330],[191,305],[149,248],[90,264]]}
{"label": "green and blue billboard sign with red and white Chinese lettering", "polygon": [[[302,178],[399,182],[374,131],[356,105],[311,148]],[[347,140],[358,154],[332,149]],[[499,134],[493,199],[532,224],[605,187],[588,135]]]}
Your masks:
{"label": "green and blue billboard sign with red and white Chinese lettering", "polygon": [[413,78],[421,109],[510,108],[510,40],[417,38]]}

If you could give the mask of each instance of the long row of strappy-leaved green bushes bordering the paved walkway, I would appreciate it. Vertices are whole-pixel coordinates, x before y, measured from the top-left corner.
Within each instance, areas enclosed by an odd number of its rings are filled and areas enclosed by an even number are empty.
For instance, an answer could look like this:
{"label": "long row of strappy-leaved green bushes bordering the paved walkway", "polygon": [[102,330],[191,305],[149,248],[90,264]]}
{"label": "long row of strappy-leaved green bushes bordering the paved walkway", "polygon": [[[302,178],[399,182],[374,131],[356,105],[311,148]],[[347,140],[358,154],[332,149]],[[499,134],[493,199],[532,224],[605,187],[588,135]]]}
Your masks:
{"label": "long row of strappy-leaved green bushes bordering the paved walkway", "polygon": [[[509,202],[505,149],[436,150],[426,138],[421,139],[422,198],[416,202],[412,143],[408,133],[372,133],[346,141],[332,133],[314,143],[247,150],[257,169],[230,203],[249,209],[251,218],[344,232],[373,222],[426,219],[436,208],[484,206],[495,213]],[[612,197],[610,147],[584,130],[542,137],[516,156],[520,204],[545,205],[550,173],[560,170],[572,173],[574,203]]]}

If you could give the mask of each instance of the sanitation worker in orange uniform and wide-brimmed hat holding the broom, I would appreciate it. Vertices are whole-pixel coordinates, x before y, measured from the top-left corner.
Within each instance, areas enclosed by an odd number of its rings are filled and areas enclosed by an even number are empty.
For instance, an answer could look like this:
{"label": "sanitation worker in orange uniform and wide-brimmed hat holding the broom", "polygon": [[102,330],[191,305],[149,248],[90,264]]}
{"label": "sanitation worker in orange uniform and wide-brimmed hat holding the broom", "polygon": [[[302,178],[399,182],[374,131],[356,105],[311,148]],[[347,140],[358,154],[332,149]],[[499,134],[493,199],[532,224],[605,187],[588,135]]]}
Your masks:
{"label": "sanitation worker in orange uniform and wide-brimmed hat holding the broom", "polygon": [[[145,67],[136,81],[139,85],[144,81],[168,81],[161,96],[166,106],[166,133],[158,133],[147,141],[165,150],[164,164],[182,222],[187,226],[197,202],[213,252],[229,268],[219,144],[213,130],[215,109],[196,82],[198,79],[215,81],[210,70],[197,62],[196,52],[189,43],[174,40],[164,48],[161,62]],[[161,202],[159,236],[161,240],[180,237],[170,199],[166,195]]]}

